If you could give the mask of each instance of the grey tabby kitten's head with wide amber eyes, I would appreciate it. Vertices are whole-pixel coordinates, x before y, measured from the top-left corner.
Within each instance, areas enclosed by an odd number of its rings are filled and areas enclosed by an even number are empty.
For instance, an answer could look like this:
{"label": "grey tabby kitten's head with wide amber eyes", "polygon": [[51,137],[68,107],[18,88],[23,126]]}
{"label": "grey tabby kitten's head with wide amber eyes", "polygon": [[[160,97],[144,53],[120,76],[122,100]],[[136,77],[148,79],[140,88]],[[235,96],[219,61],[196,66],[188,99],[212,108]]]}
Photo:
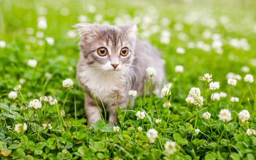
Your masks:
{"label": "grey tabby kitten's head with wide amber eyes", "polygon": [[81,42],[81,56],[91,67],[104,71],[126,69],[134,59],[137,26],[124,24],[120,26],[99,24],[76,24]]}

